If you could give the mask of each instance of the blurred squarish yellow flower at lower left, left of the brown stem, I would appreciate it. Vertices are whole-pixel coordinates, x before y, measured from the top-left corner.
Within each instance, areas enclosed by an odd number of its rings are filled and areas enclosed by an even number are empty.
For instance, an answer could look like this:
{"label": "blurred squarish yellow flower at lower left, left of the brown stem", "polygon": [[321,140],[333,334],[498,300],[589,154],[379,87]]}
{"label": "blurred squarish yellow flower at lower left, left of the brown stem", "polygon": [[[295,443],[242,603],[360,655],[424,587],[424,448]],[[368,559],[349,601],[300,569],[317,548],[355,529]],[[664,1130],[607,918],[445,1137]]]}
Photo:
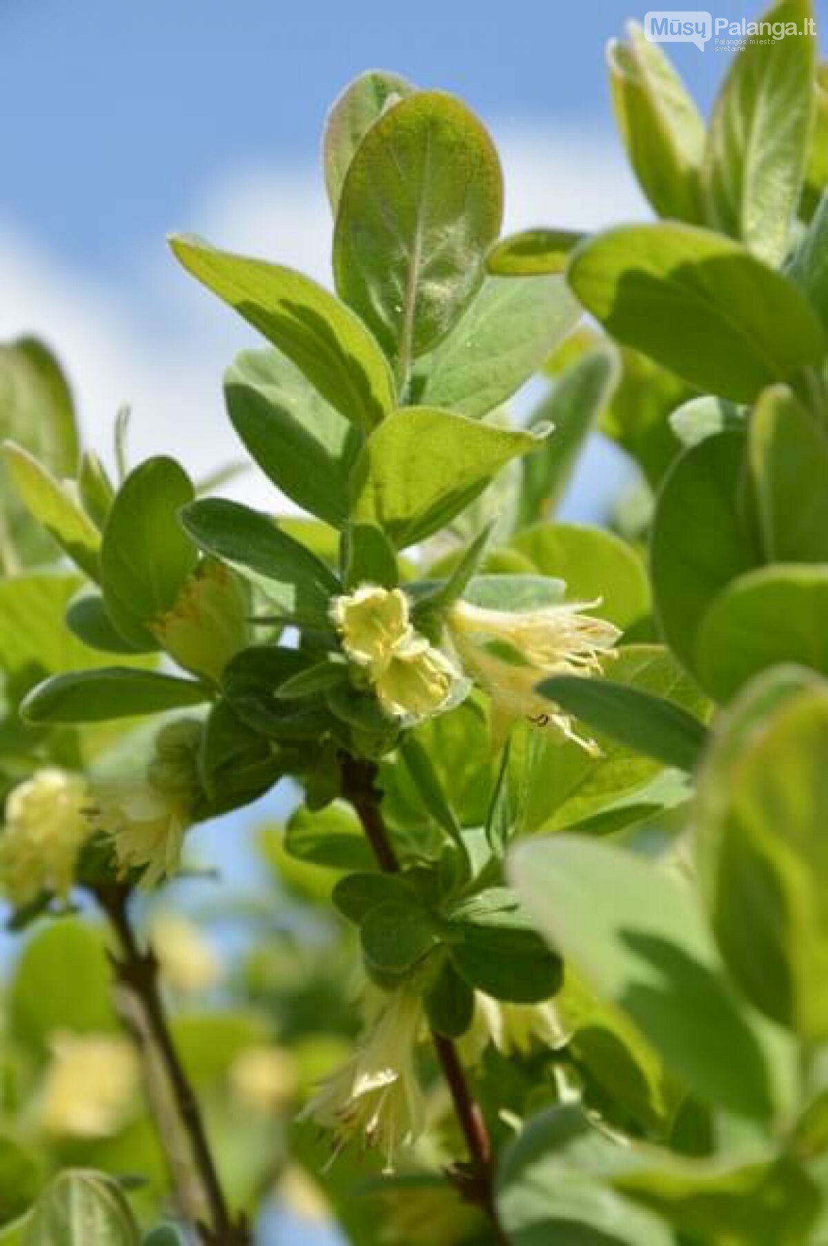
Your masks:
{"label": "blurred squarish yellow flower at lower left, left of the brown stem", "polygon": [[126,1038],[57,1035],[44,1087],[42,1128],[72,1138],[117,1133],[134,1106],[138,1074],[138,1059]]}

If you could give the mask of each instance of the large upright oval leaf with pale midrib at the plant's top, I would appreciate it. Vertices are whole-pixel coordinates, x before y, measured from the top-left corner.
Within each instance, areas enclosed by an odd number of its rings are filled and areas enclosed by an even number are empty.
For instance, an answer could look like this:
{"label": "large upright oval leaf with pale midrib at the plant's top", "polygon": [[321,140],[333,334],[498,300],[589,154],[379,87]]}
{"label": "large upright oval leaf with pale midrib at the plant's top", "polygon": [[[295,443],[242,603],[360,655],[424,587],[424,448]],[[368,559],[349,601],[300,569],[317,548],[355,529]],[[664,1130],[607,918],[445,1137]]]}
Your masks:
{"label": "large upright oval leaf with pale midrib at the plant's top", "polygon": [[449,95],[407,96],[357,147],[336,217],[336,288],[402,373],[471,303],[502,214],[492,140]]}

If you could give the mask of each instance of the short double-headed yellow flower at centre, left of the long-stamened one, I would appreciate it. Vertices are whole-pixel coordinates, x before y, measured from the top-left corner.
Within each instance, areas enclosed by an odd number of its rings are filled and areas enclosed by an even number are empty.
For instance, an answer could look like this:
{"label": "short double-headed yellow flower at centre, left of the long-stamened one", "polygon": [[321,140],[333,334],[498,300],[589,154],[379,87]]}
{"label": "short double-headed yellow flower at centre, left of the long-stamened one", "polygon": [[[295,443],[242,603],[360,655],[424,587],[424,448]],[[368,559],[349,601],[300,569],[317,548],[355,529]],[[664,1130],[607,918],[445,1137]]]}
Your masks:
{"label": "short double-headed yellow flower at centre, left of the long-stamened one", "polygon": [[364,668],[390,718],[416,721],[443,709],[459,673],[441,649],[415,630],[402,589],[362,584],[335,599],[332,618],[342,649]]}

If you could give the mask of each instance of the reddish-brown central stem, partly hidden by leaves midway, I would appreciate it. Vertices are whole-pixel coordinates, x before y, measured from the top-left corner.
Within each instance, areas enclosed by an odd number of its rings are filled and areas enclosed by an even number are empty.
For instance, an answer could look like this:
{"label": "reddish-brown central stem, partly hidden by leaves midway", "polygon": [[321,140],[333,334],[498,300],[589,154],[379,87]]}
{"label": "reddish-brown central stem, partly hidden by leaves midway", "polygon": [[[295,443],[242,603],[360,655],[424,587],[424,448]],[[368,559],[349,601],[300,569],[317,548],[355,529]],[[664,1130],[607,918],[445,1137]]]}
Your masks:
{"label": "reddish-brown central stem, partly hidden by leaves midway", "polygon": [[[382,816],[382,791],[377,786],[376,765],[350,754],[344,754],[340,761],[342,794],[354,806],[380,868],[386,873],[398,873],[400,861]],[[498,1242],[506,1244],[494,1206],[492,1143],[483,1114],[472,1094],[456,1044],[433,1029],[431,1037],[468,1148],[469,1161],[453,1166],[452,1180],[463,1196],[477,1204],[489,1217]]]}

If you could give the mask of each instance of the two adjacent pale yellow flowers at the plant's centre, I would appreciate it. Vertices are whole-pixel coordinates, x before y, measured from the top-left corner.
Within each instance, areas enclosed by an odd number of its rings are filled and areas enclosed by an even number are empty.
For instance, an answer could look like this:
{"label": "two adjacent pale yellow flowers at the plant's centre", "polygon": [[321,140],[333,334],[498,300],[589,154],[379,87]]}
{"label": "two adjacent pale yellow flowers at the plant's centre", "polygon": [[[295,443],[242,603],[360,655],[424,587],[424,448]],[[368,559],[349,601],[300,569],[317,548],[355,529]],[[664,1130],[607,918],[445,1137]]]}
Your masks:
{"label": "two adjacent pale yellow flowers at the plant's centre", "polygon": [[468,679],[492,698],[494,734],[513,721],[550,725],[594,750],[591,740],[535,690],[552,674],[600,673],[600,658],[618,629],[584,613],[598,602],[570,602],[533,611],[503,611],[456,602],[445,616],[445,648],[412,623],[400,588],[362,584],[334,601],[332,617],[346,657],[365,672],[385,713],[412,724],[451,708]]}

